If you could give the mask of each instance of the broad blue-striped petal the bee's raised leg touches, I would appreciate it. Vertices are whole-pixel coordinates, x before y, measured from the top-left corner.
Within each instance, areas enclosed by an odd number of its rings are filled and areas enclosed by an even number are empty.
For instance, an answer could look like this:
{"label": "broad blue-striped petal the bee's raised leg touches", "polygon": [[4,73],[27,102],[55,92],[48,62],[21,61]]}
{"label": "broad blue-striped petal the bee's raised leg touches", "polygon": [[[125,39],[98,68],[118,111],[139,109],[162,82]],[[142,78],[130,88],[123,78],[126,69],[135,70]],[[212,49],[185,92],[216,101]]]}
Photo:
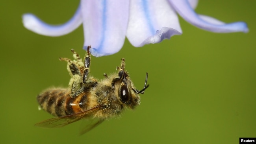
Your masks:
{"label": "broad blue-striped petal the bee's raised leg touches", "polygon": [[119,52],[124,44],[129,15],[128,0],[82,0],[84,49],[92,46],[98,57]]}

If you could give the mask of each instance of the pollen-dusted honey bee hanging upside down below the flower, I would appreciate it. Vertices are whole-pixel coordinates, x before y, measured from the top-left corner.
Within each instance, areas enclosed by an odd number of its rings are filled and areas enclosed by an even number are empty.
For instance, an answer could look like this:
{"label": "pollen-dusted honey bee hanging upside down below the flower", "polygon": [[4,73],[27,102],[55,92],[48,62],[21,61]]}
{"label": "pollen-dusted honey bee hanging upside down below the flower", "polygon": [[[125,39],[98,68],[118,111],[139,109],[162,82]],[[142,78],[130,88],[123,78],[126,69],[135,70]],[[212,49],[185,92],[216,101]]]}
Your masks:
{"label": "pollen-dusted honey bee hanging upside down below the flower", "polygon": [[104,74],[104,79],[98,81],[89,75],[90,48],[91,46],[88,46],[84,61],[74,50],[71,50],[73,61],[59,58],[67,62],[67,70],[71,76],[69,87],[48,89],[37,96],[41,109],[58,117],[39,122],[35,126],[63,127],[81,119],[88,119],[91,122],[82,129],[80,134],[83,134],[104,120],[118,116],[124,108],[134,109],[140,104],[139,94],[144,94],[149,86],[148,73],[144,88],[135,89],[125,70],[124,59],[121,59],[117,74]]}

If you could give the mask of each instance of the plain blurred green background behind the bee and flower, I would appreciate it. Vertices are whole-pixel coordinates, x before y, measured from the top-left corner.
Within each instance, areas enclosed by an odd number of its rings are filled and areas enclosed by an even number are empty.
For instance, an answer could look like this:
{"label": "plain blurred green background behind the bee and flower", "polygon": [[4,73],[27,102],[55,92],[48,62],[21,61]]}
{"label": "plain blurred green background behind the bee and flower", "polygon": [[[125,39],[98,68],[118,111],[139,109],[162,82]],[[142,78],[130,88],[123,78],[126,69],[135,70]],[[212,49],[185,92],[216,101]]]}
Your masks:
{"label": "plain blurred green background behind the bee and flower", "polygon": [[0,143],[197,143],[238,144],[256,137],[256,1],[199,1],[197,13],[224,22],[245,21],[249,33],[211,33],[180,18],[183,34],[159,44],[134,48],[126,39],[121,51],[93,57],[91,74],[116,72],[120,59],[137,89],[148,72],[150,87],[136,110],[78,136],[81,122],[59,129],[34,124],[52,118],[38,111],[42,90],[67,87],[71,48],[84,55],[82,26],[61,37],[45,37],[23,27],[21,16],[33,13],[60,24],[74,14],[79,0],[1,1]]}

